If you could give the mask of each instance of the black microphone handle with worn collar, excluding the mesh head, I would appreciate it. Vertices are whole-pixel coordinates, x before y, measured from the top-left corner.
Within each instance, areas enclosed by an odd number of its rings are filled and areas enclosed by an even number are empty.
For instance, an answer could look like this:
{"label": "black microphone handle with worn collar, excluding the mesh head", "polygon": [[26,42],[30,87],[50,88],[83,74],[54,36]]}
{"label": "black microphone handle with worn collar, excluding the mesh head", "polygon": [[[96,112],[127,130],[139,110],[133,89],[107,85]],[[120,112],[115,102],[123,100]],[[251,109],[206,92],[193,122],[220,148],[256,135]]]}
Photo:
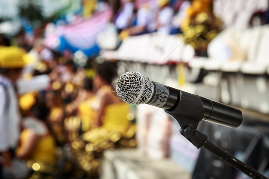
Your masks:
{"label": "black microphone handle with worn collar, excluding the mesh head", "polygon": [[157,82],[153,82],[153,85],[153,96],[146,104],[163,108],[172,116],[205,120],[232,128],[240,126],[243,121],[239,109]]}

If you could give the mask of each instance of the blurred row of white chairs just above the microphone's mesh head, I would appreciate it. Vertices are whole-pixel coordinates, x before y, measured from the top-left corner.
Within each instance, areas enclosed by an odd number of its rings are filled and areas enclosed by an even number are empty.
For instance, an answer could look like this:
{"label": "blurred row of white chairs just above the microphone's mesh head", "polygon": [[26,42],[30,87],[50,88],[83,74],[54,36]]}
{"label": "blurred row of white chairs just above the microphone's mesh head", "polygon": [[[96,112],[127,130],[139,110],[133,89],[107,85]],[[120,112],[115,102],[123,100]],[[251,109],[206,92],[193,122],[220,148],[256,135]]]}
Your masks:
{"label": "blurred row of white chairs just above the microphone's mesh head", "polygon": [[104,50],[104,58],[134,61],[148,64],[188,62],[193,59],[195,50],[184,44],[182,36],[150,33],[124,39],[116,51]]}

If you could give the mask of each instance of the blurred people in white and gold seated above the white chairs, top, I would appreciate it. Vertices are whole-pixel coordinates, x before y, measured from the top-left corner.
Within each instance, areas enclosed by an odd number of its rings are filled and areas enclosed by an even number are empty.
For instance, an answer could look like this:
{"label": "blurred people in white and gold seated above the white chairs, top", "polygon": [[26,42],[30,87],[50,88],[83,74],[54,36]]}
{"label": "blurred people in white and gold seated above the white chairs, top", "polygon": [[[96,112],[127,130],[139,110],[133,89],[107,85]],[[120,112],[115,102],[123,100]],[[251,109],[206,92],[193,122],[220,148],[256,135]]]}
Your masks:
{"label": "blurred people in white and gold seated above the white chairs, top", "polygon": [[[192,45],[197,55],[206,56],[208,43],[224,28],[221,19],[213,14],[211,0],[112,2],[114,3],[111,5],[113,8],[111,23],[117,29],[120,41],[129,36],[151,32],[166,35],[182,34],[184,42]],[[99,10],[99,5],[92,4],[92,6],[91,9]]]}

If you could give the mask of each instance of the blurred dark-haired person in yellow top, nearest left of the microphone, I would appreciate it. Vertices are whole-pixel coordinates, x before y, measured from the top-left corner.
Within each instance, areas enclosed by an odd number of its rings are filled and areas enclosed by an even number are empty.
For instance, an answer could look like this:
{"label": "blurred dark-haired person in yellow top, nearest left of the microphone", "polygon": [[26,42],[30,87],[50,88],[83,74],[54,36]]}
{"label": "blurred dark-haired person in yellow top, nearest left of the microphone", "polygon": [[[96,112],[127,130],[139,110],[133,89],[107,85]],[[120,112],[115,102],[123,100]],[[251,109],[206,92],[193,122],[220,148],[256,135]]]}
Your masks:
{"label": "blurred dark-haired person in yellow top, nearest left of the microphone", "polygon": [[94,122],[95,126],[124,134],[130,125],[127,119],[129,105],[117,97],[112,85],[112,80],[117,75],[116,68],[116,62],[105,61],[97,65],[93,82],[99,104]]}

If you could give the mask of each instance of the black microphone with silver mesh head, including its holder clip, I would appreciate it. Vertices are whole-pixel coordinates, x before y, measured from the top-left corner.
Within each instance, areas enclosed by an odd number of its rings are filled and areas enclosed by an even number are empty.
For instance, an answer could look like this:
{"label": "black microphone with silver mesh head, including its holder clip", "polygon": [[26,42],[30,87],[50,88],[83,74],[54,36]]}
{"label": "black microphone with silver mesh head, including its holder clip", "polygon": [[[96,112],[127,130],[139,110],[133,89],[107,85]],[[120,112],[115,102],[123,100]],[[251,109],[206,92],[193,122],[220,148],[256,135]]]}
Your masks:
{"label": "black microphone with silver mesh head, including its holder clip", "polygon": [[[241,125],[243,114],[239,109],[220,102],[184,92],[158,82],[152,82],[140,72],[126,72],[116,85],[118,96],[128,104],[149,104],[165,109],[184,129],[184,119],[191,120],[192,127],[205,120],[222,126],[236,128]],[[198,122],[197,122],[198,121]]]}

